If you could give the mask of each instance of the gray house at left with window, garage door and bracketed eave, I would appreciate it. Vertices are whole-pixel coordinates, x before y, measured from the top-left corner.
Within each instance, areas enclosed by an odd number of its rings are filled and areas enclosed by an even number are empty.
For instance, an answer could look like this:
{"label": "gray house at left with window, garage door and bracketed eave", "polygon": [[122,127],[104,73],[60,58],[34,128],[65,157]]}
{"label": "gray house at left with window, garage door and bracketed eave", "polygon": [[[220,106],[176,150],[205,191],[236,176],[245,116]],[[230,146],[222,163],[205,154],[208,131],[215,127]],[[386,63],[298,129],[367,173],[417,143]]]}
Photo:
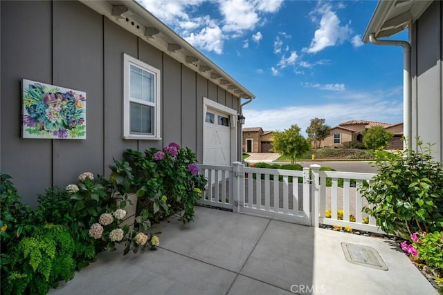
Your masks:
{"label": "gray house at left with window, garage door and bracketed eave", "polygon": [[[237,116],[254,95],[135,1],[0,1],[0,21],[0,171],[24,202],[109,175],[125,149],[242,160]],[[22,79],[86,93],[86,139],[22,138]]]}

